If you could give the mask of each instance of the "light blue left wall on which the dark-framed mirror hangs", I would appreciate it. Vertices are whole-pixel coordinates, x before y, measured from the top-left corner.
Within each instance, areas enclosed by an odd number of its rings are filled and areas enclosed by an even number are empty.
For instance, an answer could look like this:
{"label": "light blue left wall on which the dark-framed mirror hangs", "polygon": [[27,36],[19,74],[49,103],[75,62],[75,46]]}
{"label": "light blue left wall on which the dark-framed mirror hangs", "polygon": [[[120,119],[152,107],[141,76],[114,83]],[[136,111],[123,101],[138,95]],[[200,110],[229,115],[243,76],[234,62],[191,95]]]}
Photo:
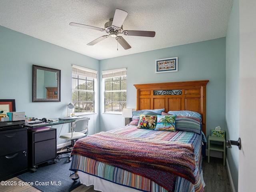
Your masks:
{"label": "light blue left wall on which the dark-framed mirror hangs", "polygon": [[[61,70],[61,102],[32,102],[33,64]],[[72,100],[72,64],[99,70],[96,59],[0,26],[0,99],[15,99],[16,111],[35,118],[66,116]],[[99,115],[88,116],[89,134],[94,134],[99,131]],[[67,124],[57,128],[57,136],[69,130]],[[57,144],[65,141],[58,139]]]}

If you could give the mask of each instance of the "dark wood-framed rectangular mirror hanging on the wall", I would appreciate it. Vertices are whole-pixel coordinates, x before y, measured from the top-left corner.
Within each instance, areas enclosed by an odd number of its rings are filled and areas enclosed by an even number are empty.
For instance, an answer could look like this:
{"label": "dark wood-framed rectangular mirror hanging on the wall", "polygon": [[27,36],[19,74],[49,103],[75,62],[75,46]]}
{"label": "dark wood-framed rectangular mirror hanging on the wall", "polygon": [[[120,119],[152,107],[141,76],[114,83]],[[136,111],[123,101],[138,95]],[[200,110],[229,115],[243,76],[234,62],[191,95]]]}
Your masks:
{"label": "dark wood-framed rectangular mirror hanging on the wall", "polygon": [[60,70],[33,65],[33,102],[60,102]]}

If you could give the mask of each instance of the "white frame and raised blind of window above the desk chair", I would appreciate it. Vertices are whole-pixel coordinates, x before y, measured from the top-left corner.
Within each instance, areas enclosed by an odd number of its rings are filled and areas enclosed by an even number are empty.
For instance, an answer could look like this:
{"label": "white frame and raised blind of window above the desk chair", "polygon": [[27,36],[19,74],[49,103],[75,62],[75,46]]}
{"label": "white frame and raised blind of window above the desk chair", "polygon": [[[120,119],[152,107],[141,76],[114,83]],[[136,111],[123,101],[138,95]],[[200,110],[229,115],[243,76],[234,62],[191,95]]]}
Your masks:
{"label": "white frame and raised blind of window above the desk chair", "polygon": [[[76,74],[80,76],[85,76],[85,77],[90,77],[94,79],[94,90],[80,90],[82,92],[94,92],[94,98],[93,98],[93,107],[94,107],[94,112],[75,112],[75,115],[83,115],[83,114],[94,114],[96,113],[96,109],[97,109],[97,102],[96,102],[96,98],[97,98],[97,71],[96,70],[92,70],[89,68],[84,68],[81,66],[76,66],[76,65],[72,65],[72,75]],[[73,80],[73,77],[72,77]],[[73,85],[72,85],[73,86]],[[77,91],[77,89],[73,89],[72,88],[72,92],[73,91]],[[73,100],[73,99],[72,99]],[[74,104],[76,103],[76,101],[72,101]],[[79,102],[79,101],[78,101]]]}

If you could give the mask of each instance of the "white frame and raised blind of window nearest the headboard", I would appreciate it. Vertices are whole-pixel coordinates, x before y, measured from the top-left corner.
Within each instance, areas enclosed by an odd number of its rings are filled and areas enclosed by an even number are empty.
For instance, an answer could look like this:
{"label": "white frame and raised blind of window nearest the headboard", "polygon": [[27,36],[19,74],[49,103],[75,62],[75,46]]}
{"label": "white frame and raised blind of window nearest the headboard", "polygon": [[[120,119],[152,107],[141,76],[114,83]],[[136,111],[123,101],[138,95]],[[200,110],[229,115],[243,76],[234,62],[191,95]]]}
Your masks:
{"label": "white frame and raised blind of window nearest the headboard", "polygon": [[[127,86],[127,75],[126,75],[126,68],[120,68],[120,69],[113,69],[113,70],[104,70],[102,71],[102,111],[103,113],[107,114],[122,114],[120,111],[105,111],[105,92],[126,92],[126,90],[112,90],[112,91],[105,91],[105,85],[106,85],[106,78],[112,78],[112,77],[120,77],[120,76],[126,76],[126,86]],[[127,89],[127,87],[126,87]],[[126,94],[127,98],[127,94]],[[120,102],[120,101],[119,101]]]}

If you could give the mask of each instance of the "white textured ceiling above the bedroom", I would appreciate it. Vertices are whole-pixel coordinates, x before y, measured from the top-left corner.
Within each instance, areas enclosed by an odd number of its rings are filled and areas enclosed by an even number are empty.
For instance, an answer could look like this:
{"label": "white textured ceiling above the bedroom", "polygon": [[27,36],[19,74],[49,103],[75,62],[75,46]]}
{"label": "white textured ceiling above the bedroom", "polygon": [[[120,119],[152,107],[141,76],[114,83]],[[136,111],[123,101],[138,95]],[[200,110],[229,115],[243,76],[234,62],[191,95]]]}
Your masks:
{"label": "white textured ceiling above the bedroom", "polygon": [[[96,58],[113,58],[226,36],[233,0],[0,0],[0,26]],[[70,22],[104,28],[116,8],[128,12],[124,30],[150,30],[156,36],[124,36],[124,50],[112,38]],[[118,48],[118,50],[117,50]]]}

